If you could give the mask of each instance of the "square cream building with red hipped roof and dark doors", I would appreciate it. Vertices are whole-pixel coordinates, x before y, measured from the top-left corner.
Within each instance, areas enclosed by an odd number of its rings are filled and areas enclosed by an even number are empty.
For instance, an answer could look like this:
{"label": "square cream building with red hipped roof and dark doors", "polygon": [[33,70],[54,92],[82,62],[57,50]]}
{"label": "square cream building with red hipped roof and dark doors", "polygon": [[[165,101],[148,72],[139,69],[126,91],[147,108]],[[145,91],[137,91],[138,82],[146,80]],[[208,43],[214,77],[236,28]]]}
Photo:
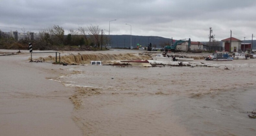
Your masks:
{"label": "square cream building with red hipped roof and dark doors", "polygon": [[238,52],[238,50],[241,50],[242,41],[239,39],[231,37],[231,48],[230,48],[230,38],[227,38],[221,41],[222,41],[222,47],[225,49],[225,51]]}

